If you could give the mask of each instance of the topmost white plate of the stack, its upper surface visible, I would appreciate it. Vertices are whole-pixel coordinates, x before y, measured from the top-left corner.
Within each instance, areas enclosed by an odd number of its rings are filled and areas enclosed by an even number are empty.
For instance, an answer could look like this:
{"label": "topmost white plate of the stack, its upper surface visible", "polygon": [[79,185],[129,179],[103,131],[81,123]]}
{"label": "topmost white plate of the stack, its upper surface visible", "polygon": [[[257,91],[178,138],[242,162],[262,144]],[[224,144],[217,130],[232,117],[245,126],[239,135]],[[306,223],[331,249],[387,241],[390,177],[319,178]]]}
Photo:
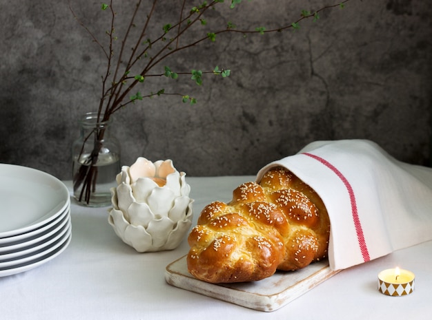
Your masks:
{"label": "topmost white plate of the stack, its upper surface visible", "polygon": [[0,238],[32,231],[62,213],[69,191],[48,173],[0,164]]}

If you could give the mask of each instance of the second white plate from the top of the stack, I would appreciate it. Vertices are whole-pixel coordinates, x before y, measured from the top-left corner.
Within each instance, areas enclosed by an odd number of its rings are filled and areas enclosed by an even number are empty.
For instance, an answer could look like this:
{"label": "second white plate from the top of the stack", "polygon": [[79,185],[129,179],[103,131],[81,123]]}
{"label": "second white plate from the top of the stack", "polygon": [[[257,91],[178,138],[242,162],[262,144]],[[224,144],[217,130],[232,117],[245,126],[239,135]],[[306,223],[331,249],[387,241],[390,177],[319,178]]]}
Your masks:
{"label": "second white plate from the top of the stack", "polygon": [[66,216],[70,214],[70,206],[61,213],[55,220],[37,228],[29,233],[22,233],[21,235],[16,235],[14,237],[7,237],[0,239],[0,255],[2,253],[8,253],[12,250],[22,250],[26,246],[31,246],[39,242],[46,237],[56,233],[61,225],[66,222]]}

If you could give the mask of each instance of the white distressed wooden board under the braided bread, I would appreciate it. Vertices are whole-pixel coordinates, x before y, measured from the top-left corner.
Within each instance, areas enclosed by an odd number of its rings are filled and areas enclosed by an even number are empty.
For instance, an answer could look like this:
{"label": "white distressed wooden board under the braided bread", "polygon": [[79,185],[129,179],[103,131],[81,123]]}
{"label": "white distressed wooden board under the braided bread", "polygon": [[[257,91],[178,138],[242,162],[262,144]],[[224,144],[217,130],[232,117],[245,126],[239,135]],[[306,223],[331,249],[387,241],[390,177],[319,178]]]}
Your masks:
{"label": "white distressed wooden board under the braided bread", "polygon": [[294,272],[277,272],[255,282],[209,284],[188,273],[186,256],[166,267],[168,284],[239,306],[271,312],[290,303],[340,270],[331,270],[327,261],[310,264]]}

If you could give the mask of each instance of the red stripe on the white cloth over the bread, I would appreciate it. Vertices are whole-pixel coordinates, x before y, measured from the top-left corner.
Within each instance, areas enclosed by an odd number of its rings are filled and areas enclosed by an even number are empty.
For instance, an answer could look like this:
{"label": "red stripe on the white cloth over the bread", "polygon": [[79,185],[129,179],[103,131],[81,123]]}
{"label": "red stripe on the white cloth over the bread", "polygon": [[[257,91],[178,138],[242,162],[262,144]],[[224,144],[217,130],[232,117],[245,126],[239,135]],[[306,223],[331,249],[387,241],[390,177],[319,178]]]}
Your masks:
{"label": "red stripe on the white cloth over the bread", "polygon": [[333,164],[331,164],[327,160],[319,156],[315,156],[314,154],[311,153],[303,153],[303,154],[324,164],[326,167],[328,167],[328,169],[331,169],[331,171],[333,171],[337,175],[337,177],[340,178],[340,180],[342,180],[342,182],[344,183],[346,190],[348,191],[349,200],[351,202],[351,213],[353,215],[353,222],[355,226],[355,232],[357,233],[357,239],[358,239],[358,244],[360,246],[360,251],[362,252],[364,262],[368,262],[371,258],[369,257],[369,250],[368,247],[366,246],[366,241],[364,240],[363,228],[358,216],[357,204],[355,202],[355,194],[353,191],[353,187],[345,178],[345,176],[339,170],[337,170],[337,168],[333,166]]}

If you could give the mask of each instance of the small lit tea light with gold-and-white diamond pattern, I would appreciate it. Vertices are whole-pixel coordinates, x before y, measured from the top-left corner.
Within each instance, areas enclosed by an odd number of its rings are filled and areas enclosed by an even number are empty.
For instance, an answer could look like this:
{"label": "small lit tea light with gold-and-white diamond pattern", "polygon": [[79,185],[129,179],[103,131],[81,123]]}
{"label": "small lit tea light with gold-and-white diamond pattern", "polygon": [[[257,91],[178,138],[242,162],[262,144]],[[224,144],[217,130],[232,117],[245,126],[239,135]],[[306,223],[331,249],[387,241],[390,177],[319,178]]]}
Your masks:
{"label": "small lit tea light with gold-and-white diamond pattern", "polygon": [[382,270],[378,274],[378,290],[384,295],[399,297],[414,291],[415,275],[400,268]]}

